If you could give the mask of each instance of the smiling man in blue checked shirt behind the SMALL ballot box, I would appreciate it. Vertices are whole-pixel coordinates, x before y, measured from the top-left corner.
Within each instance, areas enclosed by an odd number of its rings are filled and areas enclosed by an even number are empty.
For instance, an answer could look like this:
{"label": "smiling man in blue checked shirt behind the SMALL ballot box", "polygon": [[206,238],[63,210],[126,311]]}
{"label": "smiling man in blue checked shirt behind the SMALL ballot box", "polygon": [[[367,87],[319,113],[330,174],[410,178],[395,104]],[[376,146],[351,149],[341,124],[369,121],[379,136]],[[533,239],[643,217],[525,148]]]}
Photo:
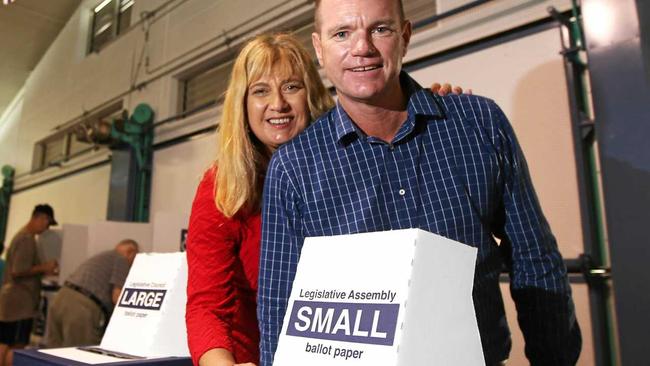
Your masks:
{"label": "smiling man in blue checked shirt behind the SMALL ballot box", "polygon": [[305,237],[405,228],[478,248],[473,298],[487,365],[510,351],[504,263],[531,364],[574,364],[581,338],[566,269],[512,128],[493,101],[434,96],[401,72],[410,36],[400,1],[316,1],[312,40],[339,100],[269,164],[261,365],[272,363]]}

